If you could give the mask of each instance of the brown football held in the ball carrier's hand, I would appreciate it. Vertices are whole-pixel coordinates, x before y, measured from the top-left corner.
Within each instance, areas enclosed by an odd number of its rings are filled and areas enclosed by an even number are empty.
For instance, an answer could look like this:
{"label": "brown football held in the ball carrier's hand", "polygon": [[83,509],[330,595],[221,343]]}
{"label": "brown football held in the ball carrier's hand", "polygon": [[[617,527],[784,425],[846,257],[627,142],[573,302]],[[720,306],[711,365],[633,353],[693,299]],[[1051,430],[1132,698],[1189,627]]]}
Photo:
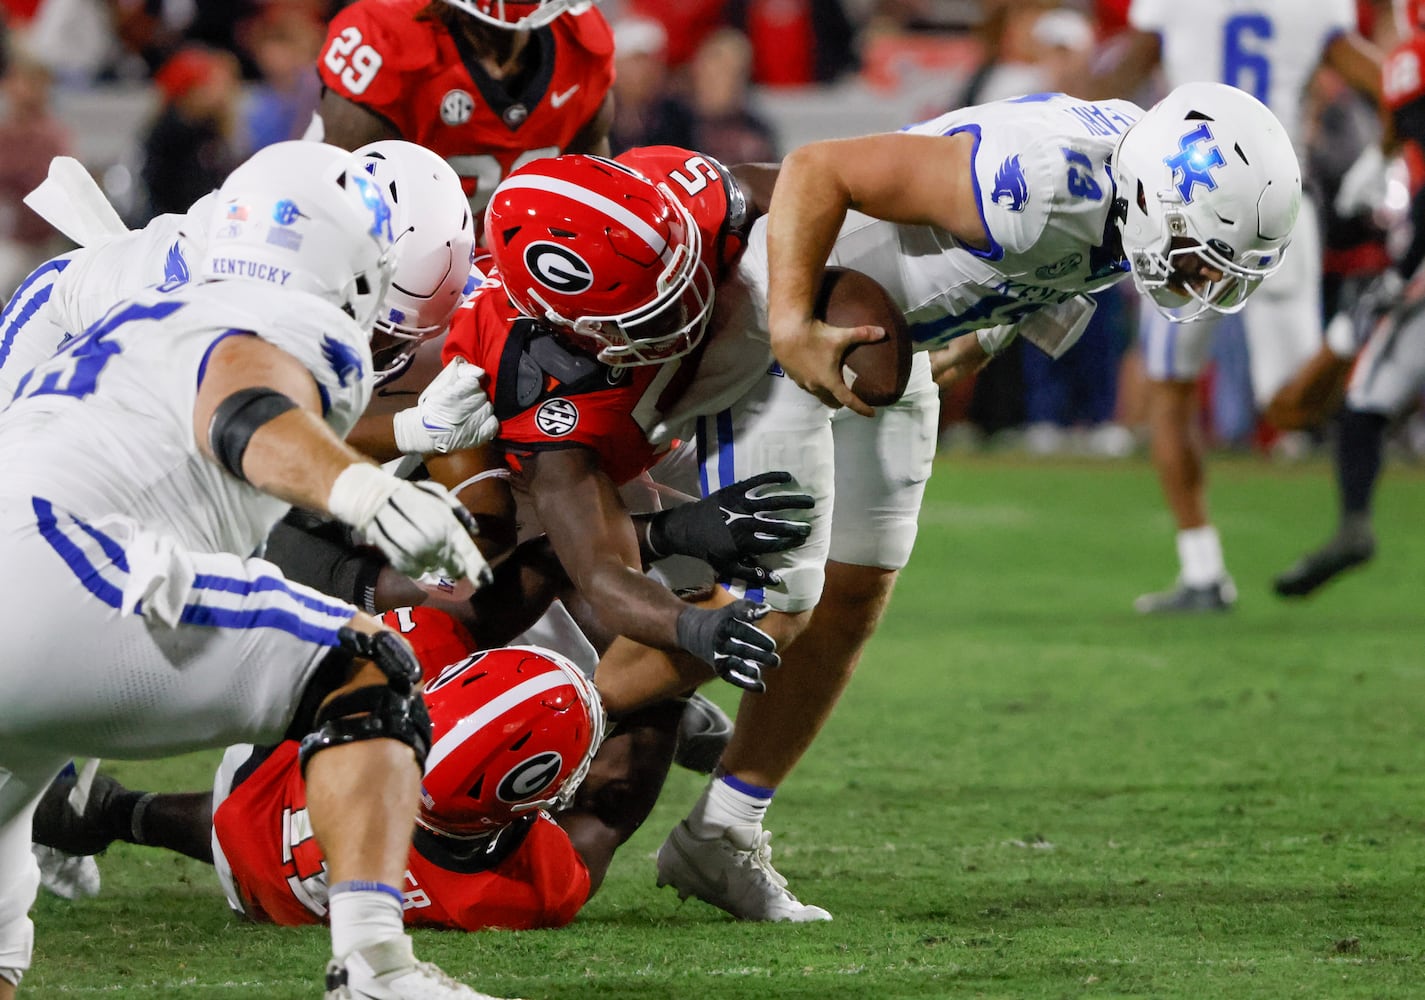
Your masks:
{"label": "brown football held in the ball carrier's hand", "polygon": [[879,326],[886,335],[856,343],[841,358],[851,392],[869,406],[901,399],[911,379],[911,330],[886,291],[859,271],[826,268],[817,318],[832,326]]}

